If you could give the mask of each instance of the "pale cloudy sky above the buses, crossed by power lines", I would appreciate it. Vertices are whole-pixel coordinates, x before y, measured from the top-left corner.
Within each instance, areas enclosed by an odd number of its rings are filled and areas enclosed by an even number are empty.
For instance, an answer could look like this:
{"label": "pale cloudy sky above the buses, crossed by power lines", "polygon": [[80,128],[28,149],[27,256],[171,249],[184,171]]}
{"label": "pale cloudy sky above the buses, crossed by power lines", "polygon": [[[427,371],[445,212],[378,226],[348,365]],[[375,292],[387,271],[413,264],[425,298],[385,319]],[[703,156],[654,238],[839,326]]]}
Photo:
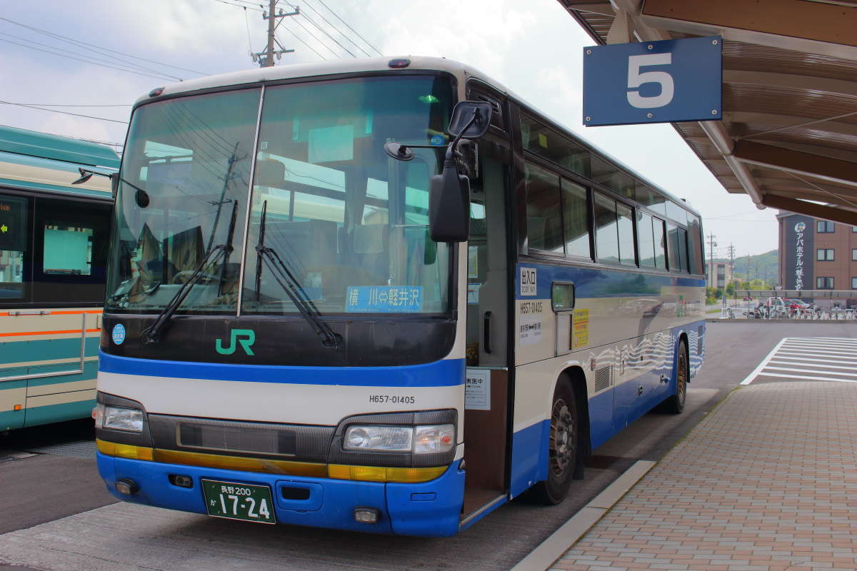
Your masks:
{"label": "pale cloudy sky above the buses, crossed by power lines", "polygon": [[[470,64],[686,199],[702,214],[706,257],[710,234],[715,257],[726,256],[730,245],[736,257],[776,248],[776,211],[759,211],[745,194],[727,193],[671,125],[582,126],[583,48],[594,42],[557,0],[296,4],[301,15],[285,18],[278,30],[283,47],[295,51],[277,65],[351,58],[346,49],[360,57],[377,49]],[[279,0],[278,7],[289,12],[293,5]],[[122,143],[135,99],[179,79],[253,68],[249,54],[264,50],[266,34],[267,21],[252,0],[6,0],[0,124]]]}

